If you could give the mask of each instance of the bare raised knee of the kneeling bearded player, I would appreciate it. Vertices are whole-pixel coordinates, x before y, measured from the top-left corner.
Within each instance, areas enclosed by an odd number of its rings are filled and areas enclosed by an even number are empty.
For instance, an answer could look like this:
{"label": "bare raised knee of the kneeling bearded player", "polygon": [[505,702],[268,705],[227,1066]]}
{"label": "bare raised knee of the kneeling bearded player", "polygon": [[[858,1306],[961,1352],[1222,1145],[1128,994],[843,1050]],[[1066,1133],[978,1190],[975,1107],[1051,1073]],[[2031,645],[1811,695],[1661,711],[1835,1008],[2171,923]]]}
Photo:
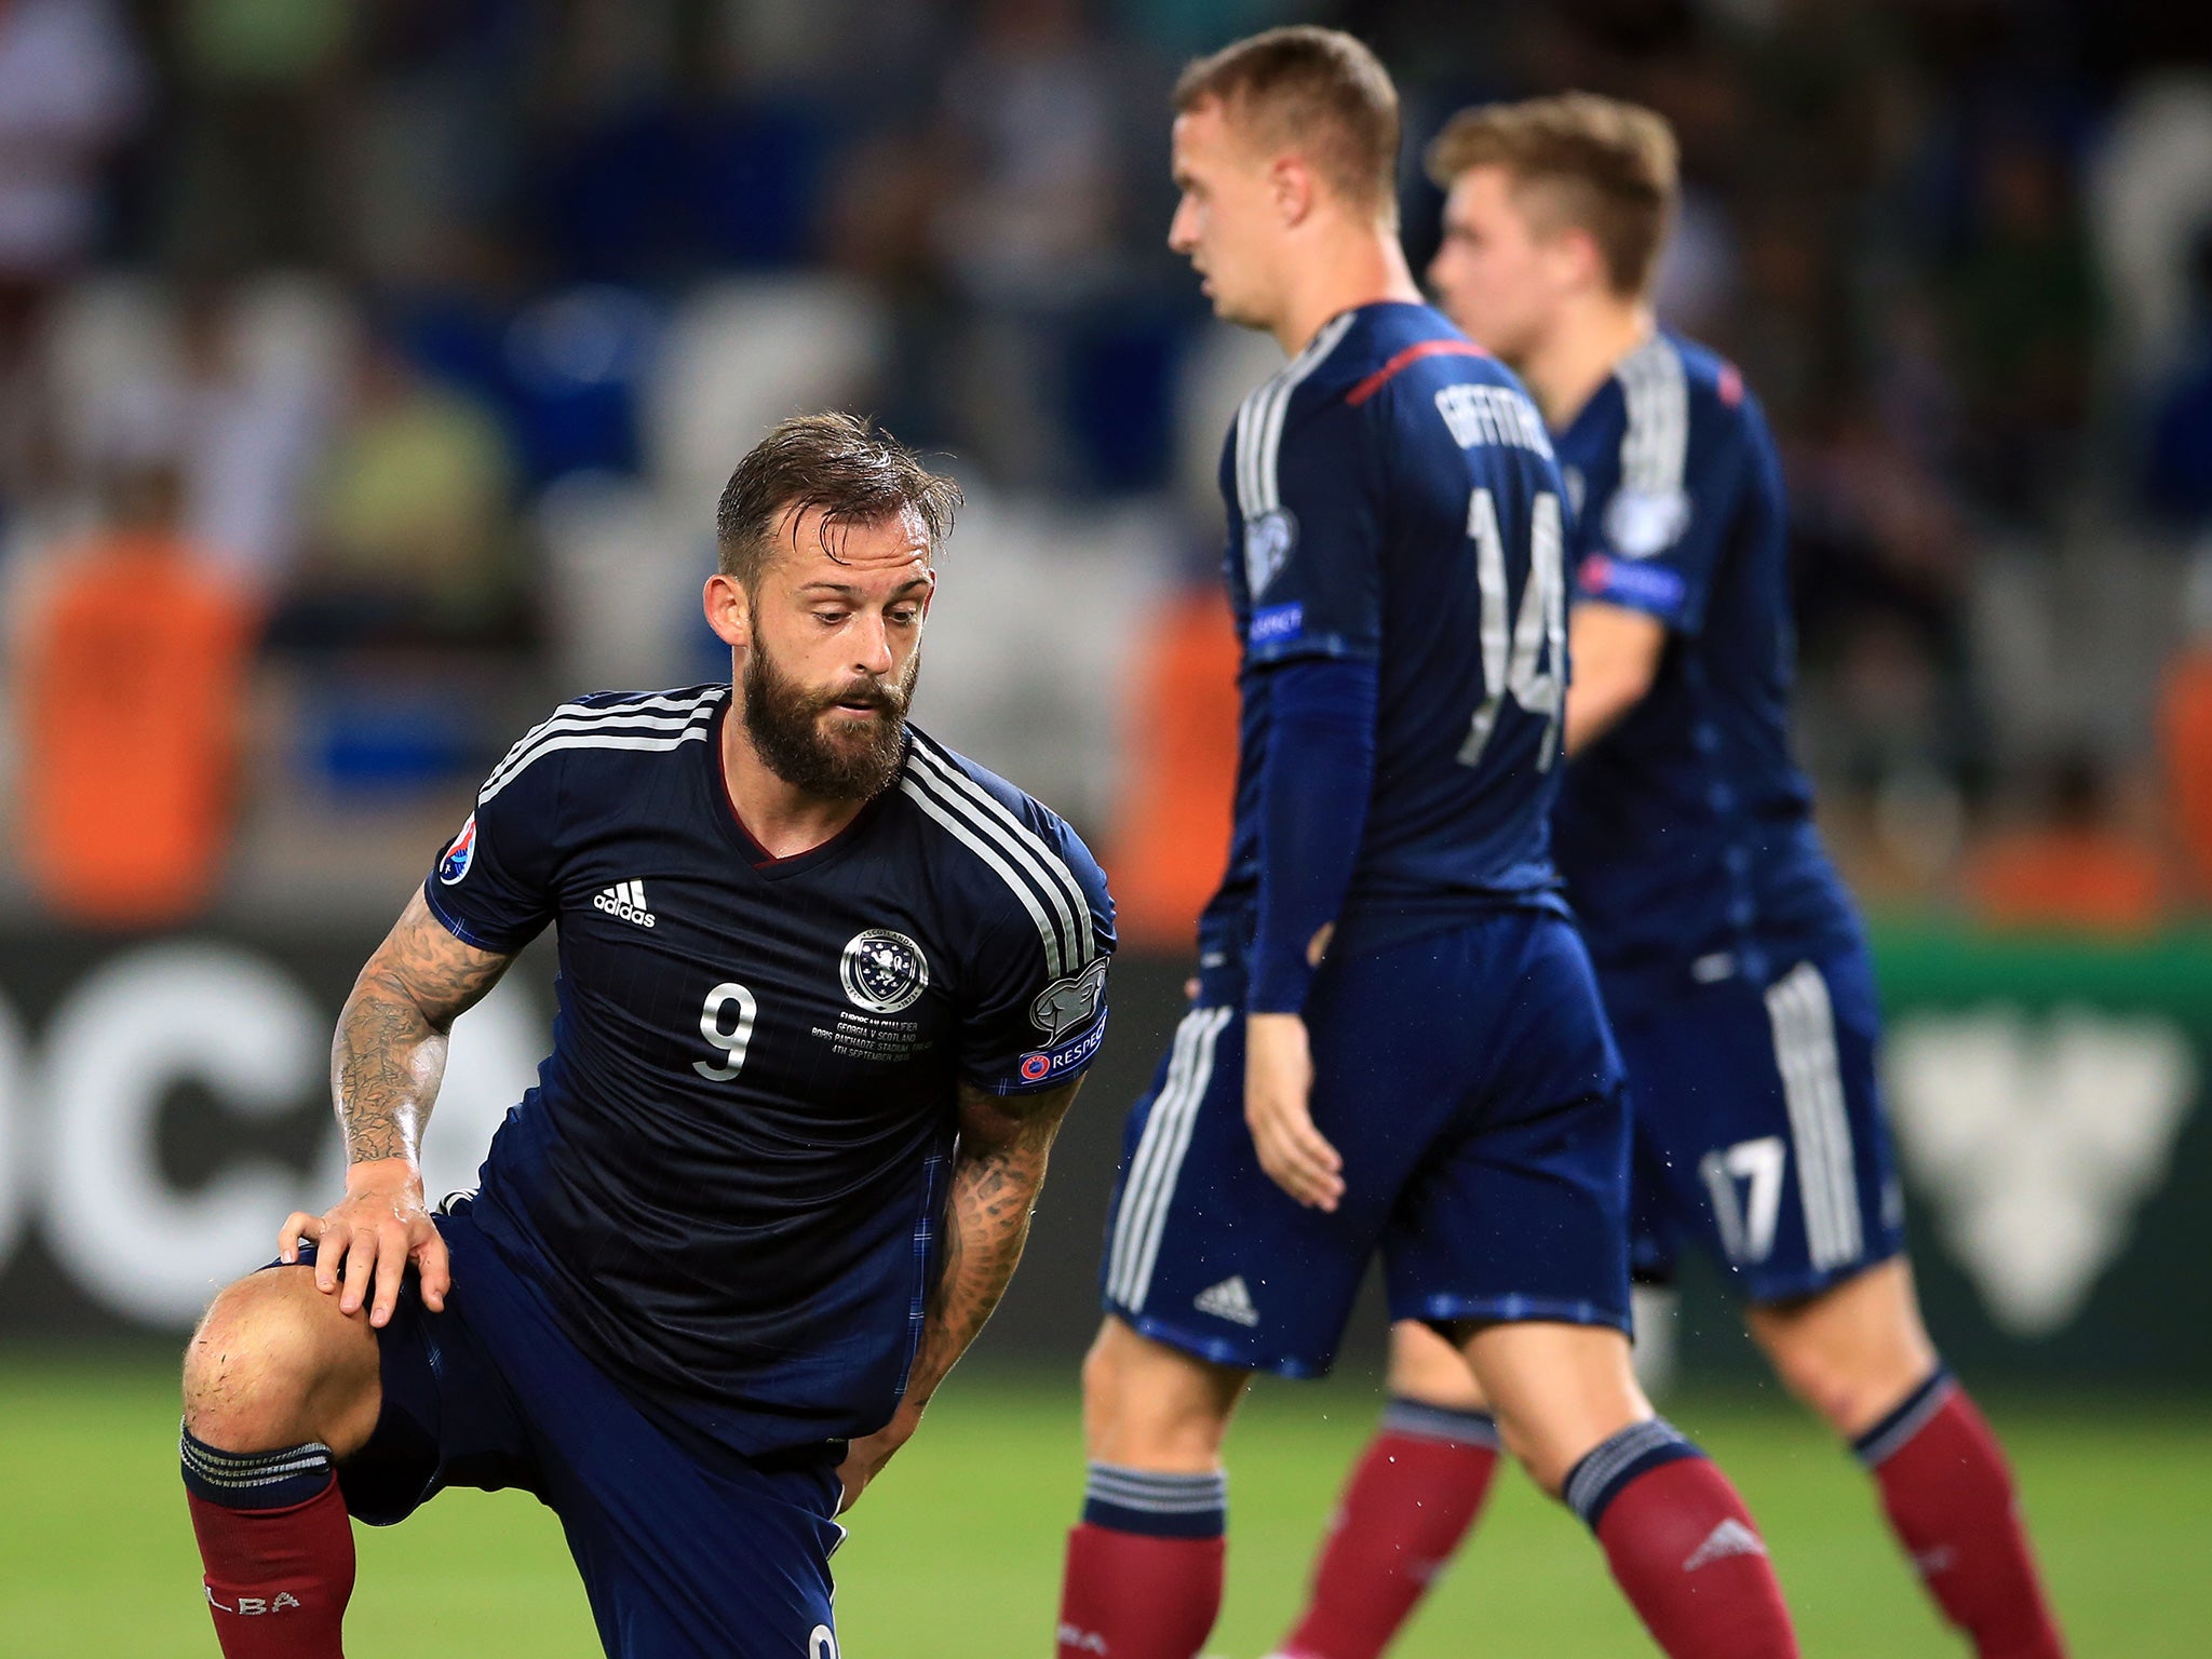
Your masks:
{"label": "bare raised knee of the kneeling bearded player", "polygon": [[314,1287],[314,1250],[223,1290],[184,1360],[184,1422],[226,1451],[321,1440],[341,1458],[378,1411],[378,1340],[367,1312],[343,1314]]}

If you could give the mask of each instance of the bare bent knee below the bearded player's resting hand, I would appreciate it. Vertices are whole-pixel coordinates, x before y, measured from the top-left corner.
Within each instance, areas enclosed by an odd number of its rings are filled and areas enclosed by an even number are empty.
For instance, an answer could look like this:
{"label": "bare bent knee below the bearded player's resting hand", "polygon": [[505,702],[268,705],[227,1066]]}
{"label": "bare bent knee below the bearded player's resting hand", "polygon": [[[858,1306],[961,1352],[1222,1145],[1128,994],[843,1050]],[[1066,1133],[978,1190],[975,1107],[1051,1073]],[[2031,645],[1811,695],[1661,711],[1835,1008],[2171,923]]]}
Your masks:
{"label": "bare bent knee below the bearded player's resting hand", "polygon": [[[345,1365],[347,1321],[303,1270],[259,1272],[223,1290],[184,1356],[184,1427],[228,1451],[321,1438],[314,1411]],[[374,1343],[374,1338],[367,1338]]]}

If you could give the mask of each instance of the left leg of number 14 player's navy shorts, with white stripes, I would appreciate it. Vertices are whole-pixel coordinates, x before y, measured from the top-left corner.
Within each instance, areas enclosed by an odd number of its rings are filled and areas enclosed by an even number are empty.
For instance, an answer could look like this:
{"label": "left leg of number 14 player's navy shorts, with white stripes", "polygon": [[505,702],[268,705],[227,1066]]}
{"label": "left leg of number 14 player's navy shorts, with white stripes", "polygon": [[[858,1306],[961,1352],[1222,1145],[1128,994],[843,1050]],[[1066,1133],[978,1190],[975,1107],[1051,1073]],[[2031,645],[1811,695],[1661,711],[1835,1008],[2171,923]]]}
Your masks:
{"label": "left leg of number 14 player's navy shorts, with white stripes", "polygon": [[[1318,1011],[1312,1042],[1323,1119],[1343,1044]],[[1394,1186],[1363,1139],[1338,1150],[1347,1192],[1334,1212],[1283,1192],[1245,1128],[1243,1018],[1194,1006],[1128,1119],[1099,1270],[1106,1312],[1212,1365],[1325,1374]]]}

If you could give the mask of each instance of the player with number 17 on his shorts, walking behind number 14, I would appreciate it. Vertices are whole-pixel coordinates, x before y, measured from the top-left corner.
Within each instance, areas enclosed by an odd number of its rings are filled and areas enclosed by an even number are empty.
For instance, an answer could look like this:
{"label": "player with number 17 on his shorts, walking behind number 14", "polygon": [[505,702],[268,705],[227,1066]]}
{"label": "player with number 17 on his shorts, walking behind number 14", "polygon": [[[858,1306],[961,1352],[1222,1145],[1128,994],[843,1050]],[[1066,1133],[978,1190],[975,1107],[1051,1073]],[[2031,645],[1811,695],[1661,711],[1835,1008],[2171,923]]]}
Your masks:
{"label": "player with number 17 on his shorts, walking behind number 14", "polygon": [[[1635,1254],[1717,1261],[1781,1380],[1874,1475],[1982,1659],[2059,1659],[2013,1480],[1920,1323],[1876,1079],[1874,969],[1790,757],[1781,467],[1756,398],[1657,325],[1677,199],[1652,111],[1462,111],[1431,265],[1515,365],[1575,495],[1575,686],[1553,834],[1628,1071]],[[1374,1659],[1473,1522],[1480,1391],[1411,1323],[1283,1659]]]}

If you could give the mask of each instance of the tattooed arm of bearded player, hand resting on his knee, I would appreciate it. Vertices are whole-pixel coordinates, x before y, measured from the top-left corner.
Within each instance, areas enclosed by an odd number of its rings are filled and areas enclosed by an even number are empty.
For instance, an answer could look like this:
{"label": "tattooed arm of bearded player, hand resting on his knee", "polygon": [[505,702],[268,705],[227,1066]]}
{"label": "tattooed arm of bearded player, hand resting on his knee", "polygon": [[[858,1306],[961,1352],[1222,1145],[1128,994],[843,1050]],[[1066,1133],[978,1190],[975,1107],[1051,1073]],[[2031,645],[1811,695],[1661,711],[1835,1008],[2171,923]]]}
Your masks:
{"label": "tattooed arm of bearded player, hand resting on his knee", "polygon": [[[347,1314],[369,1303],[385,1325],[411,1261],[422,1301],[445,1307],[445,1241],[422,1201],[422,1124],[429,1121],[453,1020],[500,982],[511,956],[462,945],[418,891],[354,980],[330,1046],[330,1093],[345,1130],[345,1197],[323,1214],[294,1212],[276,1239],[283,1261],[316,1245],[316,1290]],[[374,1285],[374,1301],[369,1296]]]}

